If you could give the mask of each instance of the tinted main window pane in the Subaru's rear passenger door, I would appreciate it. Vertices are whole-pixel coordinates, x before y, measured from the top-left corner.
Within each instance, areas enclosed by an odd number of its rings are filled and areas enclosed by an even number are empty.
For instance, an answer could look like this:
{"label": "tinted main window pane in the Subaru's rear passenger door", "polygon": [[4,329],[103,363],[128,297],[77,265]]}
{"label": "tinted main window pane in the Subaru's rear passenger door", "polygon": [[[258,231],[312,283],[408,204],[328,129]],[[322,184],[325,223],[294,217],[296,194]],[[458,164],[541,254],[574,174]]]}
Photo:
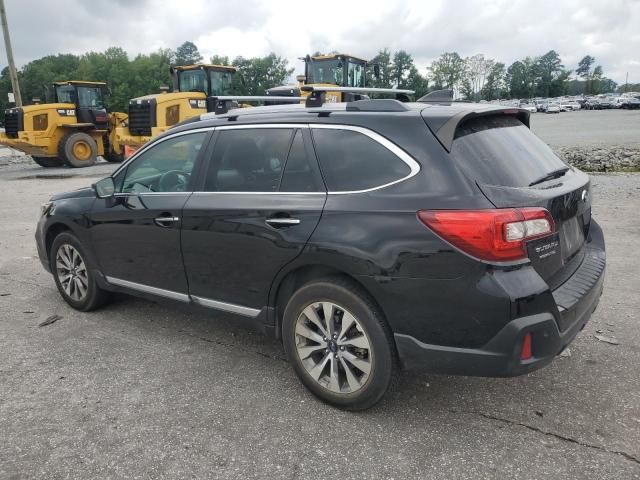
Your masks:
{"label": "tinted main window pane in the Subaru's rear passenger door", "polygon": [[204,190],[277,191],[292,136],[289,128],[221,130]]}

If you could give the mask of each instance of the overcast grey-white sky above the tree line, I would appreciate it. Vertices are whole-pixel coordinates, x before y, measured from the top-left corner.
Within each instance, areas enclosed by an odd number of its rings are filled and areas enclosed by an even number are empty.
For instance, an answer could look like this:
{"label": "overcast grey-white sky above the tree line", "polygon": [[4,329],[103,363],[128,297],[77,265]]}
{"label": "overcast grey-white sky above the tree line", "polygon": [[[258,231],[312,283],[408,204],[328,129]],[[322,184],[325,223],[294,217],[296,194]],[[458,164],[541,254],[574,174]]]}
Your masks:
{"label": "overcast grey-white sky above the tree line", "polygon": [[[439,54],[484,53],[507,66],[555,49],[567,68],[586,54],[605,75],[640,82],[640,0],[5,0],[18,66],[54,53],[120,46],[131,55],[193,41],[208,59],[289,59],[338,50],[413,55],[422,73]],[[316,9],[305,8],[318,5]],[[6,65],[6,55],[0,64]]]}

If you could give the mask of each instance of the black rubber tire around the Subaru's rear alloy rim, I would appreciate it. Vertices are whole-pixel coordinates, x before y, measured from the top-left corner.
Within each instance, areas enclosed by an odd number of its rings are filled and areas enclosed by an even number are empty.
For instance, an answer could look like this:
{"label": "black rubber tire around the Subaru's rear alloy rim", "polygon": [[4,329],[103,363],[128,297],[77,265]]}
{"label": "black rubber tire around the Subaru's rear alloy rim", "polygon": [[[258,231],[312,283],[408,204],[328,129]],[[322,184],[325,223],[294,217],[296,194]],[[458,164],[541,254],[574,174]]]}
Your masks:
{"label": "black rubber tire around the Subaru's rear alloy rim", "polygon": [[[351,313],[357,319],[359,326],[369,341],[370,356],[369,354],[367,356],[370,362],[370,372],[366,380],[363,380],[363,383],[359,386],[359,389],[353,392],[338,393],[331,391],[327,385],[322,385],[320,380],[315,380],[307,371],[308,366],[305,368],[301,355],[298,354],[298,335],[296,334],[298,318],[305,318],[301,317],[303,310],[316,302],[331,302],[342,308],[343,311]],[[341,313],[339,309],[336,312],[337,315]],[[335,277],[316,280],[297,290],[289,299],[284,311],[282,337],[287,357],[304,386],[322,401],[338,408],[357,411],[372,407],[382,399],[397,376],[398,360],[395,343],[383,313],[366,292],[347,279]],[[329,345],[327,344],[327,346]],[[339,348],[343,349],[344,347]],[[331,360],[334,355],[331,352],[335,352],[335,350],[319,350],[314,355],[319,357],[328,355],[330,357],[329,360]],[[344,352],[337,352],[335,354],[336,359],[338,359],[338,354],[343,355]],[[311,355],[307,356],[305,362],[308,362],[310,358]],[[336,360],[336,363],[339,364],[340,362],[346,365],[342,358]],[[322,363],[322,361],[319,361],[319,363]],[[327,365],[330,368],[330,364],[327,363]],[[344,367],[336,368],[339,372],[342,372],[342,385],[346,387]],[[322,371],[325,371],[324,367],[322,367]],[[354,372],[355,370],[352,369],[351,371]],[[329,374],[330,370],[327,371],[326,375]],[[320,376],[322,376],[322,373],[320,373]],[[338,388],[338,390],[341,389]]]}

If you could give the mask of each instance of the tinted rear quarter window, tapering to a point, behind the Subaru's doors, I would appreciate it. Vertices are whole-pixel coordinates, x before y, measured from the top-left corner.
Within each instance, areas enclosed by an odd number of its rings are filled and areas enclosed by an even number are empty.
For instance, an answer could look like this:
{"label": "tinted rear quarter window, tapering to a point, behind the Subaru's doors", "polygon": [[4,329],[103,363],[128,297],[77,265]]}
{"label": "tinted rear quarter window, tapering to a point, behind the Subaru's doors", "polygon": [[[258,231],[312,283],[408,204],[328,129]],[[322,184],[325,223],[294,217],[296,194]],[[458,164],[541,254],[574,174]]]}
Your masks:
{"label": "tinted rear quarter window, tapering to a point, behind the Subaru's doors", "polygon": [[360,132],[314,129],[313,140],[330,192],[380,187],[411,172],[396,154]]}

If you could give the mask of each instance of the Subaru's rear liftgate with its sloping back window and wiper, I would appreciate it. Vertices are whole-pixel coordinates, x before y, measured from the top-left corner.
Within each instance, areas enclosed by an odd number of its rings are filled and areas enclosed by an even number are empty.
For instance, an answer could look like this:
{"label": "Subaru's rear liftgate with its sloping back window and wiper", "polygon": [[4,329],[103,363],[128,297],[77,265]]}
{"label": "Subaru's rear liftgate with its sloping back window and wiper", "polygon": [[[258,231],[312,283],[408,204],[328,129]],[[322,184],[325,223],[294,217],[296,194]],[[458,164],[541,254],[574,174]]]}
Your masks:
{"label": "Subaru's rear liftgate with its sloping back window and wiper", "polygon": [[569,167],[516,117],[464,122],[451,156],[498,208],[544,207],[557,233],[529,243],[529,258],[551,288],[580,265],[591,220],[589,177]]}

